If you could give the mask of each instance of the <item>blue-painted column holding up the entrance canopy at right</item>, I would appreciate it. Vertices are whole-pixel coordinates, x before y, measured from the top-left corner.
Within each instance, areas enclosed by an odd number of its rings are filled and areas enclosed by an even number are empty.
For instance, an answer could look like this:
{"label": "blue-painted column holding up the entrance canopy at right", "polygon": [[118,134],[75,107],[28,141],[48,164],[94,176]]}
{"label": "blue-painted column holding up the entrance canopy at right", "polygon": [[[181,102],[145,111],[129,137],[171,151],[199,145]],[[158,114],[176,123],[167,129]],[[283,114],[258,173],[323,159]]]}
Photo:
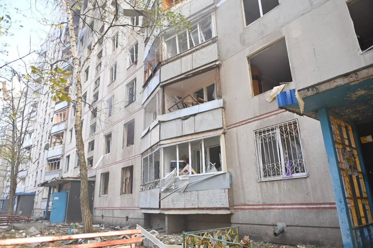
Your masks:
{"label": "blue-painted column holding up the entrance canopy at right", "polygon": [[338,156],[335,149],[332,126],[330,124],[329,113],[326,108],[318,110],[321,130],[323,133],[326,157],[329,163],[330,177],[332,179],[335,204],[338,212],[339,227],[342,233],[342,242],[344,248],[355,248],[354,235],[350,222],[344,185],[341,173],[338,168]]}

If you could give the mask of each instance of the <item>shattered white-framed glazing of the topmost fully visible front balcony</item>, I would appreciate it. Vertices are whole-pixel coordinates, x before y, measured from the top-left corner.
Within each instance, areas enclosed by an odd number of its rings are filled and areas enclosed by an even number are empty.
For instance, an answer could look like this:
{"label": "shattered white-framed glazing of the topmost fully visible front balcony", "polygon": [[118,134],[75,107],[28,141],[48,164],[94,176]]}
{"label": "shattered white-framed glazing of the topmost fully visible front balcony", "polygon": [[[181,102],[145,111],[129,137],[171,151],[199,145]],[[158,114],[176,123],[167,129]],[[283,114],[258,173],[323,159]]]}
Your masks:
{"label": "shattered white-framed glazing of the topmost fully visible front balcony", "polygon": [[192,25],[191,31],[188,29],[179,32],[178,34],[166,33],[163,36],[166,58],[171,58],[176,54],[182,53],[192,47],[195,47],[215,36],[212,16],[206,18]]}

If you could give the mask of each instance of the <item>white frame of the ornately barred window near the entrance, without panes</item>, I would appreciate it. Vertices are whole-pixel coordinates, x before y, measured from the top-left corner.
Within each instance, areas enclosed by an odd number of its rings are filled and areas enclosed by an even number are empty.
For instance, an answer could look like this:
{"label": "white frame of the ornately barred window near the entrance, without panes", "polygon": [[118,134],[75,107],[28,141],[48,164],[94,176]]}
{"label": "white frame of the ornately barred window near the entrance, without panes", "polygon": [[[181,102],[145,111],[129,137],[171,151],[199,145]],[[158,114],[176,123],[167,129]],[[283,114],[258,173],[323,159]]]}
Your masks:
{"label": "white frame of the ornately barred window near the entrance, without panes", "polygon": [[[285,164],[285,158],[284,158],[284,154],[283,154],[283,144],[282,144],[282,139],[281,138],[284,138],[286,139],[286,137],[289,137],[290,135],[292,135],[292,137],[294,137],[295,134],[288,134],[288,136],[284,137],[283,134],[280,133],[280,130],[283,129],[283,127],[287,125],[289,127],[289,125],[291,125],[293,128],[296,127],[297,128],[297,136],[298,136],[298,139],[299,139],[299,143],[300,143],[300,149],[301,149],[301,158],[297,158],[298,162],[299,160],[301,159],[302,162],[303,162],[303,169],[304,169],[304,172],[299,172],[299,173],[294,173],[294,174],[291,174],[291,175],[286,175],[286,164]],[[266,131],[266,130],[269,130],[266,132],[266,134],[273,134],[275,133],[275,142],[276,142],[276,149],[277,149],[277,155],[278,155],[278,160],[280,162],[280,175],[276,175],[275,177],[264,177],[264,172],[263,172],[263,161],[262,161],[262,147],[261,147],[261,137],[263,136],[263,131]],[[300,134],[300,129],[299,129],[299,124],[298,124],[298,120],[291,120],[291,121],[287,121],[287,122],[284,122],[284,123],[280,123],[280,124],[277,124],[277,125],[272,125],[270,127],[266,127],[266,128],[261,128],[259,130],[255,130],[254,131],[254,139],[255,139],[255,149],[256,149],[256,155],[257,155],[257,166],[258,166],[258,174],[259,174],[259,180],[258,181],[270,181],[270,180],[279,180],[279,179],[289,179],[289,178],[299,178],[299,177],[307,177],[307,171],[306,171],[306,167],[305,167],[305,163],[304,163],[304,150],[303,150],[303,145],[302,145],[302,139],[301,139],[301,134]],[[273,141],[272,141],[272,146],[273,146]],[[285,147],[286,147],[286,144],[285,144]],[[273,149],[273,147],[272,147]],[[296,151],[297,151],[297,148],[295,147]],[[291,148],[292,150],[292,148]],[[274,152],[274,150],[272,151]],[[274,156],[274,154],[273,154]],[[269,161],[271,164],[272,164],[272,161]],[[273,161],[275,162],[275,161]]]}

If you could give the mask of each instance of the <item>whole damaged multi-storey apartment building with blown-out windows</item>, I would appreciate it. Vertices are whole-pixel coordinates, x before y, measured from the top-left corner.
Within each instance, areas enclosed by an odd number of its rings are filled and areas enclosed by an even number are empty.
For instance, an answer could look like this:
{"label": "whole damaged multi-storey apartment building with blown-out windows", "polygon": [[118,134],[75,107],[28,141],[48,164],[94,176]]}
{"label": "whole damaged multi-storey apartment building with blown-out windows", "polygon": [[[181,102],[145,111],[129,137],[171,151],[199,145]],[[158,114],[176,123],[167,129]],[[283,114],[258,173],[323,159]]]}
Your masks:
{"label": "whole damaged multi-storey apartment building with blown-out windows", "polygon": [[[191,28],[118,28],[82,69],[93,220],[166,233],[233,225],[254,240],[345,243],[320,123],[279,108],[272,89],[301,92],[372,66],[371,1],[148,1],[153,4],[182,13]],[[150,22],[145,16],[118,21]],[[91,25],[102,24],[76,21],[82,58],[94,41]],[[47,197],[38,202],[46,214],[52,195],[60,194],[61,222],[79,206],[73,201],[79,164],[74,105],[53,105],[48,171],[37,176],[43,174],[38,185]],[[32,176],[26,189],[31,184]],[[285,232],[275,236],[279,223]]]}

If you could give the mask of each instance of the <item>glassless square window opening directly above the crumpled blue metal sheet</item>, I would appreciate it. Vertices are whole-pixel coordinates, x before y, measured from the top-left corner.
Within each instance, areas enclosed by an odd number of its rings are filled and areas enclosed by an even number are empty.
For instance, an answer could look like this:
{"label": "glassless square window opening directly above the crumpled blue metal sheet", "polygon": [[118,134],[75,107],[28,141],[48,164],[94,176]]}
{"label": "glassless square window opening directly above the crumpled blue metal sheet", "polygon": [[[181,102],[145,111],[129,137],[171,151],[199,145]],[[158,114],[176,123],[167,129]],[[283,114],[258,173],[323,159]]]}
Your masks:
{"label": "glassless square window opening directly above the crumpled blue metal sheet", "polygon": [[254,96],[293,80],[285,40],[270,45],[248,60]]}

